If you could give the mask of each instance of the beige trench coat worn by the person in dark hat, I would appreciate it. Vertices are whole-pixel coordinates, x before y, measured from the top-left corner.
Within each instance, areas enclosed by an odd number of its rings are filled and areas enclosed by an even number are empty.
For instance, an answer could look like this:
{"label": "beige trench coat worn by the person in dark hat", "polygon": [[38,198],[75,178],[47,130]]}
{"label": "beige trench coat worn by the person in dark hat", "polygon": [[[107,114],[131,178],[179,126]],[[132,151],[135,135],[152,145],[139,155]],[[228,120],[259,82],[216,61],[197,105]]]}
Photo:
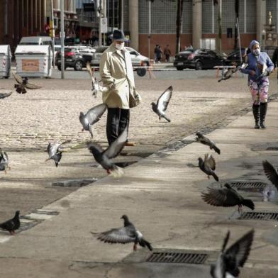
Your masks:
{"label": "beige trench coat worn by the person in dark hat", "polygon": [[99,73],[104,87],[109,91],[102,94],[109,108],[129,109],[129,92],[134,89],[134,75],[128,50],[117,50],[113,43],[101,56]]}

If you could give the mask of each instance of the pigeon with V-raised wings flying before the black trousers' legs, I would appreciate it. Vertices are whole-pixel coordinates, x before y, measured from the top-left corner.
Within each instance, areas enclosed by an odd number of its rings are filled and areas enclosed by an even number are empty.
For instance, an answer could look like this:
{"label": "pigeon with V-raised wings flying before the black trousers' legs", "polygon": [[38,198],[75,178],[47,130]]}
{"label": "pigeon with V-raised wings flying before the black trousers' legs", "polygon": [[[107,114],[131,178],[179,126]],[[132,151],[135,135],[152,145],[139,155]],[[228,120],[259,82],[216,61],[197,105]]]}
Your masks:
{"label": "pigeon with V-raised wings flying before the black trousers' legs", "polygon": [[113,177],[121,177],[123,170],[116,166],[111,158],[116,157],[123,147],[126,145],[128,139],[128,129],[123,130],[123,133],[115,140],[106,150],[103,150],[100,145],[96,143],[88,143],[90,152],[94,155],[94,159],[98,162],[108,174]]}

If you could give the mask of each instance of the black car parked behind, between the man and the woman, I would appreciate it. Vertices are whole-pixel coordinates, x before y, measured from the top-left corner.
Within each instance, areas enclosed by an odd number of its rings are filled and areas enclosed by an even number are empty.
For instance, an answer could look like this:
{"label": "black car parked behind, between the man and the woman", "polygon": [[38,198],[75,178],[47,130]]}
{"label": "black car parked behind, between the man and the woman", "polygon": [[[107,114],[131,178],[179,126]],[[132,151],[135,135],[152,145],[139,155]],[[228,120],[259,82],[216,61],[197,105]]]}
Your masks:
{"label": "black car parked behind, between the man and the woman", "polygon": [[209,49],[184,50],[174,57],[177,70],[207,70],[219,65],[225,65],[225,58]]}

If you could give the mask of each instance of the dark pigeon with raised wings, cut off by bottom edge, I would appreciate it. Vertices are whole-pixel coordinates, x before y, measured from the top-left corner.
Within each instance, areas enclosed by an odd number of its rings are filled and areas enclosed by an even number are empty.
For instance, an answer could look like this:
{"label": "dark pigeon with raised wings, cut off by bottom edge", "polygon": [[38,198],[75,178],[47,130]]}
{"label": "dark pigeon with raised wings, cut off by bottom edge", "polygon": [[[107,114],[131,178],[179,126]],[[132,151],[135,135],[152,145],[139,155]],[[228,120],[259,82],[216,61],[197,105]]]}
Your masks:
{"label": "dark pigeon with raised wings, cut off by bottom edge", "polygon": [[211,265],[211,277],[213,278],[238,277],[240,274],[239,267],[243,267],[248,259],[254,238],[254,230],[250,230],[226,250],[229,238],[230,231],[228,231],[224,239],[216,265]]}

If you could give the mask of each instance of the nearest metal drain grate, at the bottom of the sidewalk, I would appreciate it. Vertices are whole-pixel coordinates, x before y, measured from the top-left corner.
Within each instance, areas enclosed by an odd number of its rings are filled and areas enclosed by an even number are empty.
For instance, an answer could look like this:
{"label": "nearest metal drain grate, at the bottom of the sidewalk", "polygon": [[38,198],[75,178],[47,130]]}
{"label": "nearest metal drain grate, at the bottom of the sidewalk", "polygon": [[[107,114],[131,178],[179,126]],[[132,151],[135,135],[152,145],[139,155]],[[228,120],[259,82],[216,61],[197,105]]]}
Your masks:
{"label": "nearest metal drain grate, at the bottom of the sidewalk", "polygon": [[182,252],[153,252],[147,262],[174,262],[177,264],[203,265],[208,254]]}

